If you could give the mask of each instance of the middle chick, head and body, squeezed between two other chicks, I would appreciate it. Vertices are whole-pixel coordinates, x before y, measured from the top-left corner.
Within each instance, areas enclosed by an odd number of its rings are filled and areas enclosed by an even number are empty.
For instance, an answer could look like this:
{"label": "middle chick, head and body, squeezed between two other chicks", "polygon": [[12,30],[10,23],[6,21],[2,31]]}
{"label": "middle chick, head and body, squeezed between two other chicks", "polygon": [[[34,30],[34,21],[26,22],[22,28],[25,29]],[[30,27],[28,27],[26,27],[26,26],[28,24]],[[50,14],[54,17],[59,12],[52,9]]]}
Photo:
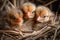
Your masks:
{"label": "middle chick, head and body, squeezed between two other chicks", "polygon": [[25,31],[32,30],[32,25],[34,23],[33,20],[35,16],[35,13],[34,13],[35,9],[36,9],[36,6],[33,3],[26,2],[22,4],[21,10],[23,11],[23,15],[24,15],[24,25],[22,27],[22,30],[25,30]]}

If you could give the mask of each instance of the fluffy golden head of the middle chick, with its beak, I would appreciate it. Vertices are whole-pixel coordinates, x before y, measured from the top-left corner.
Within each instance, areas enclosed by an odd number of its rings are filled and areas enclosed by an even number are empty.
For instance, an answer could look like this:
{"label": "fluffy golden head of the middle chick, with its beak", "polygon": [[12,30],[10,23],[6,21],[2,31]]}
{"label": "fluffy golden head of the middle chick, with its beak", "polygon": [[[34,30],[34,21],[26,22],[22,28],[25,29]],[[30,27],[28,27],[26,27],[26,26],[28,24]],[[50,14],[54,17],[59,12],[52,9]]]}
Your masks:
{"label": "fluffy golden head of the middle chick, with its beak", "polygon": [[22,4],[21,9],[24,12],[24,19],[29,19],[34,17],[36,6],[33,3],[27,2]]}

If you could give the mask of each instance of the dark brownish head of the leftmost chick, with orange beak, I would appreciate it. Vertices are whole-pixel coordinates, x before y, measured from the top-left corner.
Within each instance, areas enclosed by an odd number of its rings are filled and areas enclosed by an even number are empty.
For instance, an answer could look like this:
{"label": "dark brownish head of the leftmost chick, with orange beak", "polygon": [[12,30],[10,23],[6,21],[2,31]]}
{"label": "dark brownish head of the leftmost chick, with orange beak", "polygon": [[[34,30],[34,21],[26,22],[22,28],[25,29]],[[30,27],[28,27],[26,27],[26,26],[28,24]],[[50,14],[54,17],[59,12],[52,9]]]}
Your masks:
{"label": "dark brownish head of the leftmost chick, with orange beak", "polygon": [[20,13],[17,12],[16,9],[12,9],[10,12],[7,13],[7,21],[11,24],[11,25],[22,25],[23,23],[23,19],[22,19],[22,12],[20,11]]}

